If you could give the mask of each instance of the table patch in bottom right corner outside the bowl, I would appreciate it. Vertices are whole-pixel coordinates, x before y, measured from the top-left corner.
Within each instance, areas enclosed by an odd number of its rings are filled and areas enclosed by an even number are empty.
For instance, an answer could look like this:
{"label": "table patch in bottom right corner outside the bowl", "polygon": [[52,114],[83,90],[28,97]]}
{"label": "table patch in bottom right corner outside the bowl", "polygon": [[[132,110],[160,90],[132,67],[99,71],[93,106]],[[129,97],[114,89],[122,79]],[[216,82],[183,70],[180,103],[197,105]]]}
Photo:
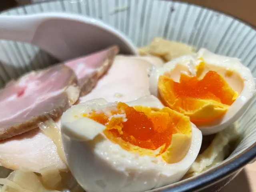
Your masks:
{"label": "table patch in bottom right corner outside the bowl", "polygon": [[248,164],[220,192],[256,192],[256,162]]}

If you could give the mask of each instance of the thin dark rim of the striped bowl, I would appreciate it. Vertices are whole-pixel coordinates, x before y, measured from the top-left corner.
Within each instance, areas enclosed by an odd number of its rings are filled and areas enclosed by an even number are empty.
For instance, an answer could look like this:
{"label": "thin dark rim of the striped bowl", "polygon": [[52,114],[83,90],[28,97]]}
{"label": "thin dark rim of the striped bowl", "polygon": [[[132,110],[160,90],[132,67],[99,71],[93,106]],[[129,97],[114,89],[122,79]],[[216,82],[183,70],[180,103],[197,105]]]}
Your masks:
{"label": "thin dark rim of the striped bowl", "polygon": [[[26,7],[26,6],[33,6],[36,4],[47,4],[50,2],[59,2],[64,0],[46,0],[44,2],[36,2],[31,4],[25,4],[25,5],[19,5],[13,8],[8,8],[6,10],[0,11],[6,12],[9,10],[15,10],[17,8]],[[177,2],[178,4],[186,4],[190,6],[195,6],[197,8],[203,8],[206,10],[214,11],[218,14],[227,16],[229,18],[233,18],[234,20],[237,20],[240,23],[243,23],[247,25],[248,27],[252,28],[252,30],[256,31],[256,26],[253,26],[249,22],[246,22],[236,16],[232,16],[231,14],[228,14],[226,12],[221,12],[219,10],[216,10],[214,8],[208,8],[206,6],[200,6],[195,3],[188,3],[188,2],[181,2],[180,0],[162,0],[167,2]],[[237,156],[234,156],[230,158],[228,161],[222,163],[219,166],[213,167],[210,170],[207,170],[206,172],[202,172],[200,175],[191,177],[185,180],[181,180],[180,182],[170,184],[167,186],[163,186],[161,188],[157,188],[154,190],[150,190],[150,192],[192,192],[192,191],[200,191],[208,186],[212,186],[215,183],[217,183],[220,180],[223,180],[227,178],[228,176],[234,174],[235,172],[238,172],[241,170],[246,164],[249,164],[254,159],[256,159],[256,142],[254,142],[249,148],[238,154]]]}

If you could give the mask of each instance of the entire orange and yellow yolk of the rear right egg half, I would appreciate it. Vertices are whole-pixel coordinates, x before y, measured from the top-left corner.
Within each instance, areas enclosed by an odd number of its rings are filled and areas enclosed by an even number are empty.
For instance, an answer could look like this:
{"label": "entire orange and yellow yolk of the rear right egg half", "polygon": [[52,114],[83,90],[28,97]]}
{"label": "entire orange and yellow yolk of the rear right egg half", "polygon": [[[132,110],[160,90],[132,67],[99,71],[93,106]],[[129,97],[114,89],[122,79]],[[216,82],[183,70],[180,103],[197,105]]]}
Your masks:
{"label": "entire orange and yellow yolk of the rear right egg half", "polygon": [[189,116],[197,126],[223,116],[238,96],[214,71],[208,71],[202,79],[180,74],[180,82],[175,82],[168,74],[159,76],[158,90],[166,106]]}

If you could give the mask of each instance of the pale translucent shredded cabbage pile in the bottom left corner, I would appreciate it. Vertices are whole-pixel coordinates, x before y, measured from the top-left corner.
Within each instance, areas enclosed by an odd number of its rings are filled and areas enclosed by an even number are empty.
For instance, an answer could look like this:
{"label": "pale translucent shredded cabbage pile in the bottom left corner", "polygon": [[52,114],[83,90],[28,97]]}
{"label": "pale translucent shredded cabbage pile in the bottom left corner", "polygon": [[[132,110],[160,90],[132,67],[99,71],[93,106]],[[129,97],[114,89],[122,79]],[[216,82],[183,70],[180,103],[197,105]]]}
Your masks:
{"label": "pale translucent shredded cabbage pile in the bottom left corner", "polygon": [[0,178],[1,192],[84,192],[70,172],[44,168],[40,173],[21,168]]}

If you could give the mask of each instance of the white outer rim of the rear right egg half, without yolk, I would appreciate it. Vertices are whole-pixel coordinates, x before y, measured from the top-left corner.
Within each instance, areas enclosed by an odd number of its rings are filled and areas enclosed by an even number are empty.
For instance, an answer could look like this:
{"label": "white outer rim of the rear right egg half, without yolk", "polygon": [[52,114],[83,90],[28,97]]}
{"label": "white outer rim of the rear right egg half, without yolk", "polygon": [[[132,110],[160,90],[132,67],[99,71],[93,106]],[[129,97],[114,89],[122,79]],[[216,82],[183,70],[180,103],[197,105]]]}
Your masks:
{"label": "white outer rim of the rear right egg half, without yolk", "polygon": [[190,64],[193,62],[194,66],[200,63],[199,58],[203,58],[204,62],[209,65],[219,66],[227,70],[233,70],[240,75],[244,82],[244,87],[235,102],[228,108],[225,115],[212,122],[208,126],[198,127],[203,135],[210,135],[220,132],[234,123],[248,108],[253,96],[255,95],[255,82],[250,69],[244,66],[238,58],[231,58],[214,54],[205,48],[201,48],[196,54],[185,55],[164,64],[163,67],[153,66],[149,72],[150,75],[150,93],[156,97],[158,94],[158,78],[164,72],[172,71],[177,64],[184,65],[191,68]]}

